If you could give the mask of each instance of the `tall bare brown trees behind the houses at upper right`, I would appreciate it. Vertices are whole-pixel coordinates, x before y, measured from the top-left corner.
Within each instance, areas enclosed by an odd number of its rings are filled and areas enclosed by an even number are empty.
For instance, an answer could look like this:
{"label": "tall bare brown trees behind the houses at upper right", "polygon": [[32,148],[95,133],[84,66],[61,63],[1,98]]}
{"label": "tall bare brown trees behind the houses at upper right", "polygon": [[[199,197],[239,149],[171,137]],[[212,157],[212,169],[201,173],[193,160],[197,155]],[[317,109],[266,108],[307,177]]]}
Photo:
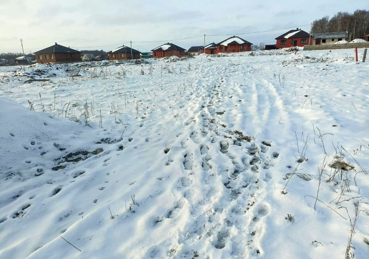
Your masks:
{"label": "tall bare brown trees behind the houses at upper right", "polygon": [[331,18],[324,16],[321,19],[315,20],[313,23],[312,33],[341,31],[347,31],[349,38],[351,37],[351,39],[368,32],[369,10],[358,9],[352,14],[347,12],[338,12]]}

